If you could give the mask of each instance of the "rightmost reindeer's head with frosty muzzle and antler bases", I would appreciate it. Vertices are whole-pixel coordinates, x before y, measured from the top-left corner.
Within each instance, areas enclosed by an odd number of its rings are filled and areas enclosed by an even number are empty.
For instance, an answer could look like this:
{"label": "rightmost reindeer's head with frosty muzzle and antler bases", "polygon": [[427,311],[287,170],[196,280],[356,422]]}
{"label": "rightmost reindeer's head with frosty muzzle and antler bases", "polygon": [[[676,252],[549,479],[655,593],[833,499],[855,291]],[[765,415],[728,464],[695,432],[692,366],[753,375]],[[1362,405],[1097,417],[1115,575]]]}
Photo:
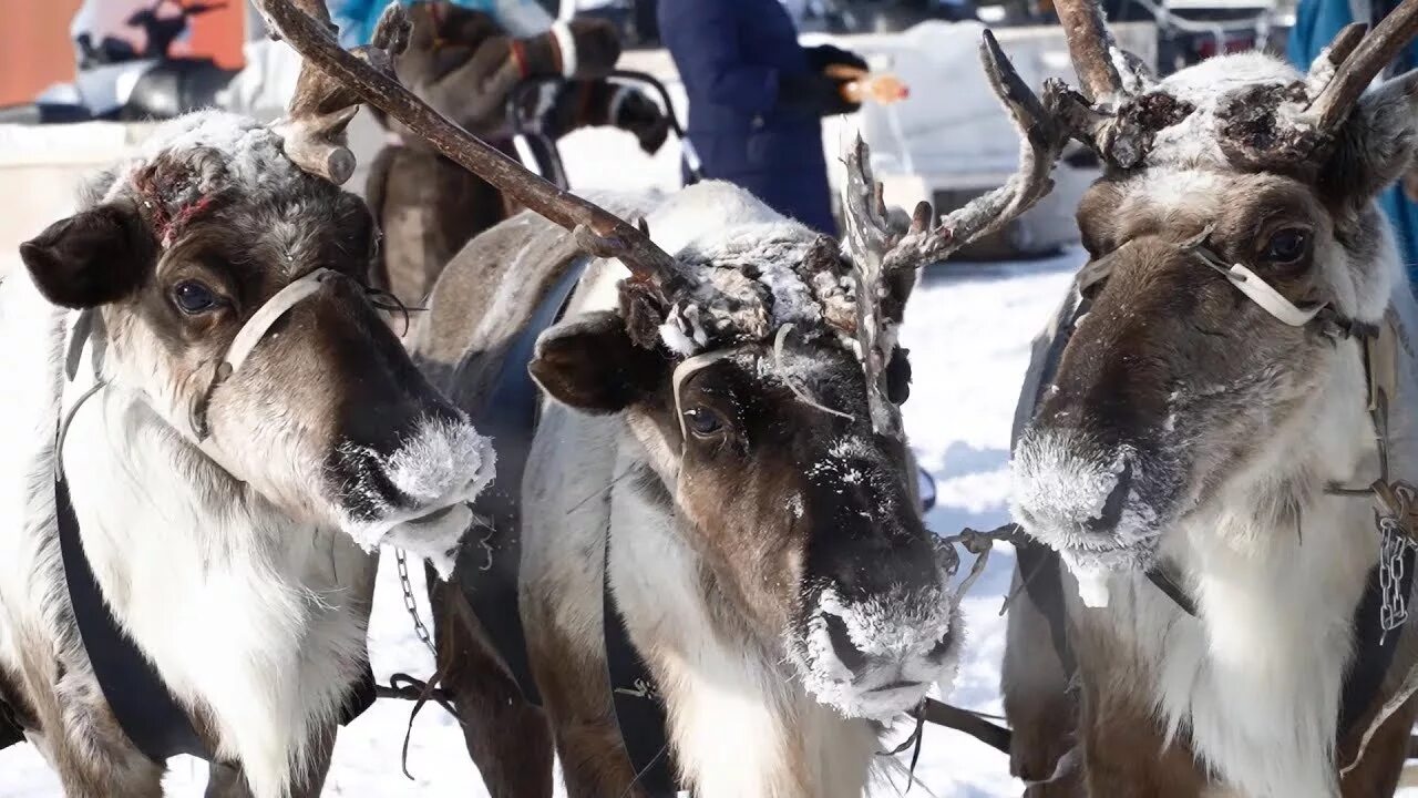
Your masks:
{"label": "rightmost reindeer's head with frosty muzzle and antler bases", "polygon": [[[1292,454],[1329,446],[1313,429],[1326,409],[1363,422],[1346,335],[1401,283],[1373,200],[1418,142],[1418,77],[1363,89],[1412,37],[1418,1],[1367,38],[1346,30],[1309,74],[1242,54],[1160,82],[1096,7],[1059,13],[1092,95],[1065,97],[1065,116],[1106,172],[1078,209],[1079,312],[1015,447],[1017,515],[1083,571],[1146,568],[1163,530],[1228,500],[1293,530],[1279,487],[1317,463]],[[1360,437],[1322,467],[1351,469]]]}

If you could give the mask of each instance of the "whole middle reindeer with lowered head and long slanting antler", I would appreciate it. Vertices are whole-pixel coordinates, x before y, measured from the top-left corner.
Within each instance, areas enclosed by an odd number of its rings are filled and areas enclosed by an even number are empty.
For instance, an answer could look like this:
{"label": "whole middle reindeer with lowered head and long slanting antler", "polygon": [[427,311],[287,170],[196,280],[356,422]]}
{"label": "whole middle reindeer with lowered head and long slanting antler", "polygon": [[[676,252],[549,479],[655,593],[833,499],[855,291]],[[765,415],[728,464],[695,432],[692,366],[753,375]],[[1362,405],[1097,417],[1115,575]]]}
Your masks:
{"label": "whole middle reindeer with lowered head and long slanting antler", "polygon": [[[510,683],[503,660],[519,652],[491,650],[496,619],[434,592],[440,674],[492,792],[550,795],[553,744],[569,794],[641,792],[613,711],[623,686],[607,676],[614,613],[645,662],[641,693],[664,703],[662,754],[693,794],[859,795],[883,723],[949,689],[963,635],[954,551],[925,530],[912,490],[896,329],[919,266],[1049,189],[1058,89],[1041,102],[987,34],[986,70],[1024,139],[1020,175],[939,224],[922,204],[906,227],[858,142],[844,250],[725,183],[605,200],[642,216],[637,227],[457,129],[286,0],[261,6],[328,74],[549,220],[523,213],[474,239],[410,335],[475,417],[523,364],[545,393],[525,473],[505,460],[489,490],[508,511],[488,513],[493,530],[459,567],[476,586],[520,548],[545,713]],[[560,321],[515,359],[569,278]],[[518,449],[496,434],[499,452]]]}

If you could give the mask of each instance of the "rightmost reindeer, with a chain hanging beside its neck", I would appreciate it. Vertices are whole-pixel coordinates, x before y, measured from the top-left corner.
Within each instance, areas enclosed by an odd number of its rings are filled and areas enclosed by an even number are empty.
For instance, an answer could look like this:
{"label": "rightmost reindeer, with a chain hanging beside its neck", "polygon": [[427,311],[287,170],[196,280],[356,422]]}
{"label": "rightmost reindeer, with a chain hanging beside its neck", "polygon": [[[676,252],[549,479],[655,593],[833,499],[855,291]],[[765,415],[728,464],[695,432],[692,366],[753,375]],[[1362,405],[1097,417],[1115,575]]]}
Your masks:
{"label": "rightmost reindeer, with a chain hanging beside its neck", "polygon": [[1014,771],[1039,795],[1390,795],[1418,317],[1374,197],[1412,159],[1418,74],[1366,88],[1418,1],[1307,74],[1248,53],[1163,81],[1095,4],[1058,9],[1088,92],[1061,112],[1106,170],[1018,413],[1014,513],[1052,552],[1015,578]]}

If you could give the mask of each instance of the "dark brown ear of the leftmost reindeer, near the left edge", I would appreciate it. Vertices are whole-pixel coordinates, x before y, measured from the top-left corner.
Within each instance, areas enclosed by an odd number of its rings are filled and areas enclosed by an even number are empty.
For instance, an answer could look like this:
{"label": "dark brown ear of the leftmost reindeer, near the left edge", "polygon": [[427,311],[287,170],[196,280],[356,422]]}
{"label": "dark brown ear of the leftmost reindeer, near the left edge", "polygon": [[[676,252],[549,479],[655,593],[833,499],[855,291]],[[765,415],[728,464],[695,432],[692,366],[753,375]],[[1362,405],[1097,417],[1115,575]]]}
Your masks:
{"label": "dark brown ear of the leftmost reindeer, near the left edge", "polygon": [[20,260],[40,293],[67,308],[92,308],[128,295],[143,283],[156,256],[157,244],[129,202],[55,222],[20,244]]}

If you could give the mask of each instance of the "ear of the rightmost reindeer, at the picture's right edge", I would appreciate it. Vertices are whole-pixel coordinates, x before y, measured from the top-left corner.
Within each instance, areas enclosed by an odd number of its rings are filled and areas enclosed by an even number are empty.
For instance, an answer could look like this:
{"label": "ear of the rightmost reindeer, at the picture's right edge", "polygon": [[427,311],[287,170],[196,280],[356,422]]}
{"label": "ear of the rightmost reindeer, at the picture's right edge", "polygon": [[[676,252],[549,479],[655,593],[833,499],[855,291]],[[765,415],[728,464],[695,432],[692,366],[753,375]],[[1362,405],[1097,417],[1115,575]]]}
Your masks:
{"label": "ear of the rightmost reindeer, at the picture's right edge", "polygon": [[1418,70],[1364,94],[1320,176],[1326,193],[1367,203],[1408,170],[1418,148]]}

